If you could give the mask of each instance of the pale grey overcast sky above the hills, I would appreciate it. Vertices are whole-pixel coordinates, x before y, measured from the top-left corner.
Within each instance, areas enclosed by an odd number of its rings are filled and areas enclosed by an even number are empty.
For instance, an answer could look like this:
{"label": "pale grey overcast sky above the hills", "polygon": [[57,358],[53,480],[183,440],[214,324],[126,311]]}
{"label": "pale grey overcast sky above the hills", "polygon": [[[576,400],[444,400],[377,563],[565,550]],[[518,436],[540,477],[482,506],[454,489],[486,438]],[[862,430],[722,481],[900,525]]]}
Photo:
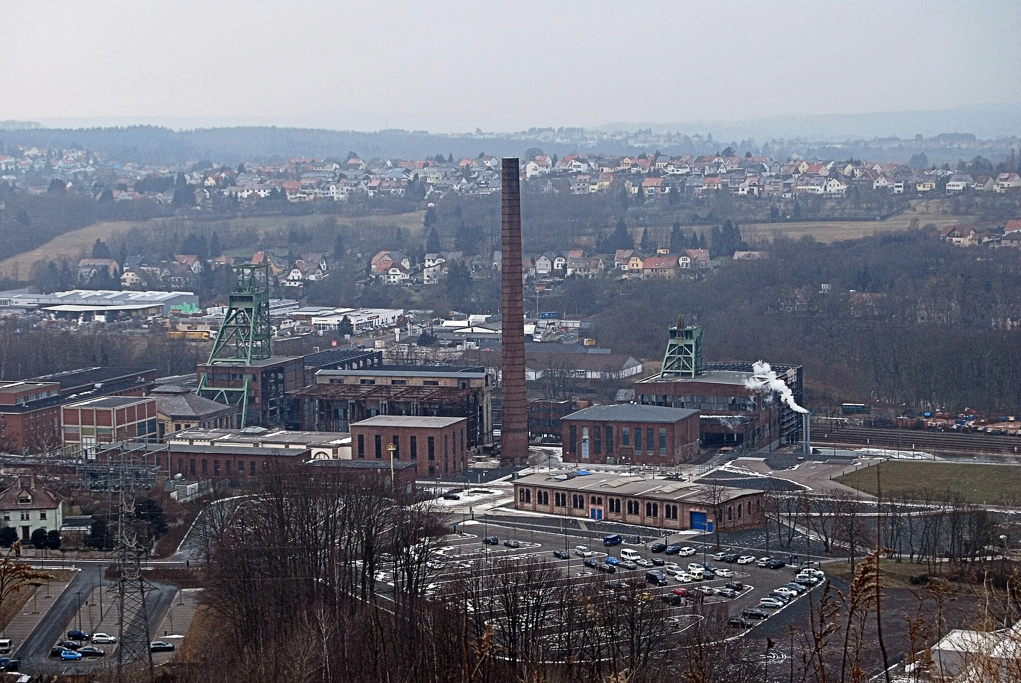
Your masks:
{"label": "pale grey overcast sky above the hills", "polygon": [[1014,1],[54,0],[0,26],[0,120],[514,131],[1021,101]]}

